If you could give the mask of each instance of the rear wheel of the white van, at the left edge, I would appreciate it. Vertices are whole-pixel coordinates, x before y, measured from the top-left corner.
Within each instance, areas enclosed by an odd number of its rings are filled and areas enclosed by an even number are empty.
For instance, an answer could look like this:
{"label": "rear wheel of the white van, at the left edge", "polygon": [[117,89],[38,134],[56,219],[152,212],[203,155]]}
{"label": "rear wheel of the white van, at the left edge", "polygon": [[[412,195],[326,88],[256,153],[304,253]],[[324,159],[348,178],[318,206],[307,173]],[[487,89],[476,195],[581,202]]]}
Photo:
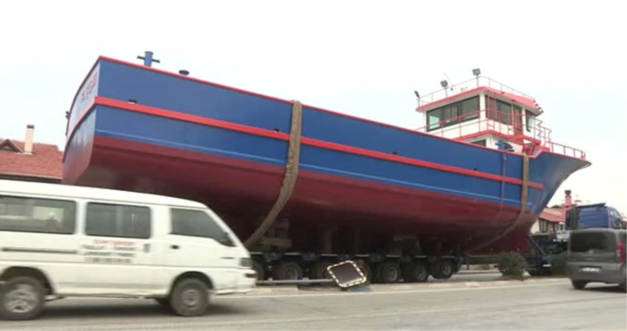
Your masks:
{"label": "rear wheel of the white van, at the left edge", "polygon": [[33,277],[15,277],[0,288],[0,316],[6,320],[32,320],[45,305],[46,290]]}

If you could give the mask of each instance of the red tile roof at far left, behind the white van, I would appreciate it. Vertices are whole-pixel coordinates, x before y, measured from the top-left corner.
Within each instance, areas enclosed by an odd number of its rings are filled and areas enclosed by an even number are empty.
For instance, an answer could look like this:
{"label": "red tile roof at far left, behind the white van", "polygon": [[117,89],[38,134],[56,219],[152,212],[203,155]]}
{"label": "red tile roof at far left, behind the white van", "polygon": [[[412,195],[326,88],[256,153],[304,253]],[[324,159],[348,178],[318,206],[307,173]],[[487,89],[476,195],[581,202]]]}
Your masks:
{"label": "red tile roof at far left, behind the white van", "polygon": [[24,141],[0,139],[0,175],[61,179],[63,152],[56,145],[33,143],[33,154],[23,151]]}

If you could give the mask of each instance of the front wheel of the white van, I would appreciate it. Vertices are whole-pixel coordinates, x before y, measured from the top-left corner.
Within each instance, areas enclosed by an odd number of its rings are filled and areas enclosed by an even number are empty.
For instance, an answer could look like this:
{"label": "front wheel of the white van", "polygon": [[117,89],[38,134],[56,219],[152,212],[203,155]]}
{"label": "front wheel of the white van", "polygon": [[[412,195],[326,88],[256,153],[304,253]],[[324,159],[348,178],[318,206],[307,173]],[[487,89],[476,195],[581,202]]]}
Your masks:
{"label": "front wheel of the white van", "polygon": [[209,288],[197,278],[184,278],[174,286],[170,305],[177,315],[203,315],[209,307]]}

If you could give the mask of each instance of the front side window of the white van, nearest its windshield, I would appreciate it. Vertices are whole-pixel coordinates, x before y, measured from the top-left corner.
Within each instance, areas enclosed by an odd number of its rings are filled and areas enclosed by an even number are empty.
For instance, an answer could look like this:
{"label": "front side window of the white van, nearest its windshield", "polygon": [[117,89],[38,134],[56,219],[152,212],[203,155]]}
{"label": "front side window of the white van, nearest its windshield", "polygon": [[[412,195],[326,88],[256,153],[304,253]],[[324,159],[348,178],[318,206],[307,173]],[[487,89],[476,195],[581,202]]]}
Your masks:
{"label": "front side window of the white van, nearest its windshield", "polygon": [[172,235],[212,238],[231,246],[233,242],[208,213],[202,210],[172,208]]}

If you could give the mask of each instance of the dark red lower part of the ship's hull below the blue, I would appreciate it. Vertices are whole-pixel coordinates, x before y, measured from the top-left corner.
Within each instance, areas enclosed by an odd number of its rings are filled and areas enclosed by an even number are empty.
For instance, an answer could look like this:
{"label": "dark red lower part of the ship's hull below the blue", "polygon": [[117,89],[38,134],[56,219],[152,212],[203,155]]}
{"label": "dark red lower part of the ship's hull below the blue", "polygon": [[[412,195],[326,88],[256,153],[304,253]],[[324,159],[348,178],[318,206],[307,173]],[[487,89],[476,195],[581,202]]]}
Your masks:
{"label": "dark red lower part of the ship's hull below the blue", "polygon": [[[91,157],[84,155],[90,152]],[[78,156],[82,160],[90,157],[87,171],[66,174],[65,182],[200,200],[226,216],[242,238],[270,209],[284,171],[282,166],[104,136],[95,137],[91,151],[82,154]],[[282,216],[298,220],[290,224],[290,235],[309,247],[319,224],[359,227],[381,237],[393,233],[448,237],[451,243],[480,232],[493,235],[518,213],[508,206],[498,210],[498,203],[301,170]],[[528,218],[521,228],[527,231],[522,233],[523,245],[533,222]],[[517,242],[507,240],[506,248]]]}

